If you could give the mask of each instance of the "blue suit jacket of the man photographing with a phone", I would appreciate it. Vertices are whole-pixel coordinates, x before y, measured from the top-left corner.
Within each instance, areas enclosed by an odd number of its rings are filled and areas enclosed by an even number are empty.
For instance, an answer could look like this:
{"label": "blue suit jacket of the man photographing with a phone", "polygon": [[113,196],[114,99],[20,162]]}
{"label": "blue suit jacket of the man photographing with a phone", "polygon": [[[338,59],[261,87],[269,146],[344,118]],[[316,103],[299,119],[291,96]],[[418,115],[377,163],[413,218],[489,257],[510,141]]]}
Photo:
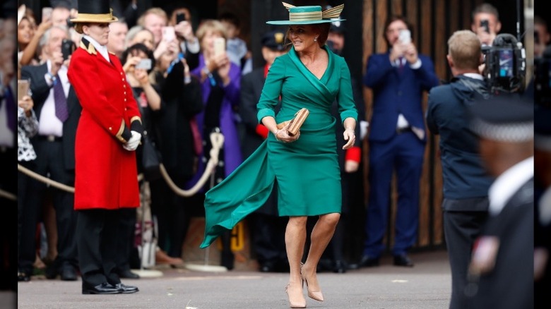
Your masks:
{"label": "blue suit jacket of the man photographing with a phone", "polygon": [[439,80],[430,58],[419,55],[419,59],[420,68],[414,70],[406,63],[401,70],[391,65],[389,52],[369,56],[364,75],[364,85],[372,88],[374,96],[369,140],[384,142],[396,135],[398,114],[411,126],[425,129],[422,92]]}

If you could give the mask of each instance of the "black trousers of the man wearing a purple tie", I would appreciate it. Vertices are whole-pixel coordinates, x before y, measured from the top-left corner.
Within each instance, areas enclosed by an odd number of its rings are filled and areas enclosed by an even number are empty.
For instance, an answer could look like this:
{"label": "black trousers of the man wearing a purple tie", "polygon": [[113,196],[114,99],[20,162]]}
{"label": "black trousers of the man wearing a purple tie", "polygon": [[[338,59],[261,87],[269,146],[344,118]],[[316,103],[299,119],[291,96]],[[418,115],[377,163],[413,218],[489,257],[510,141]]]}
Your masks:
{"label": "black trousers of the man wearing a purple tie", "polygon": [[[74,186],[74,171],[65,169],[61,141],[37,140],[34,145],[37,154],[34,171],[42,176],[49,176],[59,183]],[[42,212],[47,190],[45,183],[34,179],[28,182],[28,189],[32,194],[26,196],[21,217],[19,267],[23,271],[32,271],[32,264],[35,262],[36,224]],[[56,210],[57,267],[60,270],[64,267],[76,267],[78,263],[74,238],[76,229],[76,212],[73,210],[74,194],[57,188],[51,190]]]}

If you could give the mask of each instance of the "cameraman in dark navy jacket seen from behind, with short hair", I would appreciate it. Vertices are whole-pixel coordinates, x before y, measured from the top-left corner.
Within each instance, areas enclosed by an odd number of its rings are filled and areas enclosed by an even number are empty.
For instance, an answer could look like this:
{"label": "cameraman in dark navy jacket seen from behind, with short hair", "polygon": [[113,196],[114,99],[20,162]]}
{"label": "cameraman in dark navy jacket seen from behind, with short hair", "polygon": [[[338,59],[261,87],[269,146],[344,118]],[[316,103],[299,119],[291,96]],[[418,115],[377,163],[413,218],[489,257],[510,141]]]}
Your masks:
{"label": "cameraman in dark navy jacket seen from behind, with short hair", "polygon": [[492,178],[482,166],[478,140],[470,130],[469,106],[487,97],[478,73],[482,60],[480,40],[474,32],[460,30],[448,40],[448,63],[454,75],[447,85],[429,92],[427,126],[440,135],[444,178],[444,236],[451,266],[450,309],[468,308],[464,293],[475,239],[487,218],[488,188]]}

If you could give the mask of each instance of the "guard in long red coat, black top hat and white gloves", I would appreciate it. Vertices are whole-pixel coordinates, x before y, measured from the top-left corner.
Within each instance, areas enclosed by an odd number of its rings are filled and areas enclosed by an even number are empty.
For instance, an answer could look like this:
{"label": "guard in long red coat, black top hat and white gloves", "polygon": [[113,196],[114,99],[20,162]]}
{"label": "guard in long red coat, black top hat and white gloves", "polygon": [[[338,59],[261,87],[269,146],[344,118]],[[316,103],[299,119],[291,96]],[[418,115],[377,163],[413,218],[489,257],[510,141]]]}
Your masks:
{"label": "guard in long red coat, black top hat and white gloves", "polygon": [[140,205],[136,147],[141,118],[117,56],[107,52],[109,0],[78,1],[71,21],[83,34],[73,53],[69,81],[82,105],[76,131],[76,238],[83,294],[135,293],[114,272],[119,210]]}

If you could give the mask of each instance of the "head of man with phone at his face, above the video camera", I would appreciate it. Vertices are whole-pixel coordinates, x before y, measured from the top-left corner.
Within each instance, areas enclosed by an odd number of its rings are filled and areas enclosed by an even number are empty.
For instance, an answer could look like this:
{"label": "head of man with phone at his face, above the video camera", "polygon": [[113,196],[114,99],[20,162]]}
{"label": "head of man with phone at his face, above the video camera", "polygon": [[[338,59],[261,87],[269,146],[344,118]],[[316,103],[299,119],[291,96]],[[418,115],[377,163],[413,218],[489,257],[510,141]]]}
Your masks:
{"label": "head of man with phone at his face, above the video camera", "polygon": [[480,4],[473,10],[471,17],[473,21],[470,30],[476,33],[482,47],[492,46],[496,35],[502,29],[497,8],[492,4]]}

